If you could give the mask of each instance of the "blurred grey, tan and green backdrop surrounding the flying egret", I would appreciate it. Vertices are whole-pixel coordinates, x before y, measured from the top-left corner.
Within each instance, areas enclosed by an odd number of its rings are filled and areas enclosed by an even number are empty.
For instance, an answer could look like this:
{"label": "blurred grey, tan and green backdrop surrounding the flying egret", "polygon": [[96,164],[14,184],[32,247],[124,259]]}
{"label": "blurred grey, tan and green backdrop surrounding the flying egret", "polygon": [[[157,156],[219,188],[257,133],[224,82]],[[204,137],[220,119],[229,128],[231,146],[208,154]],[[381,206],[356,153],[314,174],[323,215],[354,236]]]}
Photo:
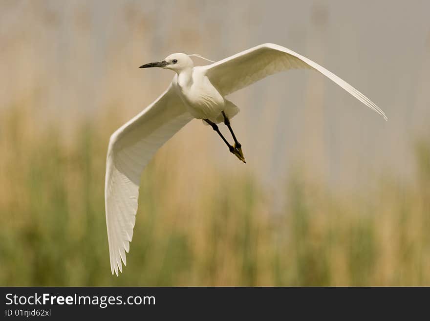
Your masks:
{"label": "blurred grey, tan and green backdrop surrounding the flying egret", "polygon": [[[0,1],[0,285],[430,285],[429,1]],[[142,175],[128,266],[110,274],[110,134],[172,72],[291,48],[230,96],[247,164],[193,121]]]}

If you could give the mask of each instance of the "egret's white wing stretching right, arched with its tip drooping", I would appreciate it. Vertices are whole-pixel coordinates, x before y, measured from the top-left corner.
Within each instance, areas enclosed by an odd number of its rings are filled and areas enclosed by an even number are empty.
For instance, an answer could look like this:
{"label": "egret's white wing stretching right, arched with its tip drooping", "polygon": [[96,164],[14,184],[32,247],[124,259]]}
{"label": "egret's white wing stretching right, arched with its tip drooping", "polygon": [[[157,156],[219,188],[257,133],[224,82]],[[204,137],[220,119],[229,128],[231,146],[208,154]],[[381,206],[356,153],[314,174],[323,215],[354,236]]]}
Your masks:
{"label": "egret's white wing stretching right, arched with its tip drooping", "polygon": [[206,69],[206,76],[212,85],[224,96],[283,70],[315,69],[387,120],[378,106],[343,79],[312,60],[274,43],[260,44],[202,68]]}

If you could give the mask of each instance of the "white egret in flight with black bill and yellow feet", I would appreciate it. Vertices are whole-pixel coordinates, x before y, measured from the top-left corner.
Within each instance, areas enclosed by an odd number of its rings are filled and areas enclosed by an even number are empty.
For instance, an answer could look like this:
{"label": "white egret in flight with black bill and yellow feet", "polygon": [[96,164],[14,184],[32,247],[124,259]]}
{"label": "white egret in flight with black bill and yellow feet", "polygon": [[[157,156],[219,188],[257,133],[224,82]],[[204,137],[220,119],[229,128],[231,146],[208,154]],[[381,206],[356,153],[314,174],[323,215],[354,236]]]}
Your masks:
{"label": "white egret in flight with black bill and yellow feet", "polygon": [[[150,106],[116,130],[109,140],[105,180],[106,225],[111,272],[122,272],[133,237],[140,176],[153,154],[193,118],[202,119],[222,138],[229,150],[245,162],[230,126],[239,108],[225,96],[276,72],[314,69],[344,88],[387,120],[365,95],[319,64],[273,43],[265,43],[205,66],[194,66],[191,55],[175,53],[140,68],[160,67],[176,74],[171,85]],[[224,122],[234,145],[216,124]],[[122,262],[121,262],[122,260]]]}

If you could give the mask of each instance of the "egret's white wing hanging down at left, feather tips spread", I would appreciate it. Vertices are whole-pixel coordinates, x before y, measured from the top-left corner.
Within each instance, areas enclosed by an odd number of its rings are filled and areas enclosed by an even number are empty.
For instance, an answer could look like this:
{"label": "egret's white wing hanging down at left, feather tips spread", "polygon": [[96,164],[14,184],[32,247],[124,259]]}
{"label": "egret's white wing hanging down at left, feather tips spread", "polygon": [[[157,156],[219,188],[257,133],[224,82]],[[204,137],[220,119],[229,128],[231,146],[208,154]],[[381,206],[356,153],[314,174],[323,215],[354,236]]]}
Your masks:
{"label": "egret's white wing hanging down at left, feather tips spread", "polygon": [[110,269],[122,272],[133,237],[140,175],[153,154],[193,117],[172,85],[150,106],[110,136],[105,206]]}

